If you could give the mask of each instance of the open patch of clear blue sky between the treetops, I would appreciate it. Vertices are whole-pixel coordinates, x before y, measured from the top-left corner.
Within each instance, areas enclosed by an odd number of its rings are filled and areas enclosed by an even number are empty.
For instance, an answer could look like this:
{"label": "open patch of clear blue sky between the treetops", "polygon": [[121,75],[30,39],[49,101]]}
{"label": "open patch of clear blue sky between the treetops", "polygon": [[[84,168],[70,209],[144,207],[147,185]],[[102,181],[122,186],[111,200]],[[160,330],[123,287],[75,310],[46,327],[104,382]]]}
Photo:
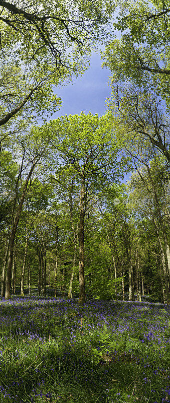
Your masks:
{"label": "open patch of clear blue sky between the treetops", "polygon": [[101,68],[103,60],[100,57],[100,54],[93,53],[90,58],[90,67],[84,75],[74,79],[73,83],[57,89],[63,106],[52,116],[52,119],[70,114],[80,115],[82,111],[86,114],[90,111],[93,115],[98,113],[99,116],[106,113],[105,100],[111,93],[108,86],[110,71]]}

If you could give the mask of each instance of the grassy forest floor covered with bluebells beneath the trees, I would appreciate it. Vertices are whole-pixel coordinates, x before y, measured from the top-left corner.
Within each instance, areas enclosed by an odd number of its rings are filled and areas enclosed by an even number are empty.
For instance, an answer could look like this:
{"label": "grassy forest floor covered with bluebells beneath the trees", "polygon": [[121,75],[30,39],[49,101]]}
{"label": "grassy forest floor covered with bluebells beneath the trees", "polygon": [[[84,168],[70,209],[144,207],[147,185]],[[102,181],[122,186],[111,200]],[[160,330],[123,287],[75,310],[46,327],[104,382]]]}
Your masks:
{"label": "grassy forest floor covered with bluebells beneath the trees", "polygon": [[167,307],[0,299],[1,403],[169,400]]}

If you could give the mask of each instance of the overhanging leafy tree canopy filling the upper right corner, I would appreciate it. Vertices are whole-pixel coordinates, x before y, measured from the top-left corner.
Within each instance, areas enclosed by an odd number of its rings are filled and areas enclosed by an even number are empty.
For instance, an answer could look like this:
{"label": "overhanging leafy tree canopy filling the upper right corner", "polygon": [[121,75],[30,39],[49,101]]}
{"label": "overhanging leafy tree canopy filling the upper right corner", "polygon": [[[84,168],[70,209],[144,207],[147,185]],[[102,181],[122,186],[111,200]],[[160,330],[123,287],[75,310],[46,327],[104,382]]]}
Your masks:
{"label": "overhanging leafy tree canopy filling the upper right corner", "polygon": [[113,25],[121,39],[110,41],[103,53],[103,65],[112,73],[109,109],[117,113],[124,132],[149,138],[168,162],[169,13],[162,0],[119,4]]}

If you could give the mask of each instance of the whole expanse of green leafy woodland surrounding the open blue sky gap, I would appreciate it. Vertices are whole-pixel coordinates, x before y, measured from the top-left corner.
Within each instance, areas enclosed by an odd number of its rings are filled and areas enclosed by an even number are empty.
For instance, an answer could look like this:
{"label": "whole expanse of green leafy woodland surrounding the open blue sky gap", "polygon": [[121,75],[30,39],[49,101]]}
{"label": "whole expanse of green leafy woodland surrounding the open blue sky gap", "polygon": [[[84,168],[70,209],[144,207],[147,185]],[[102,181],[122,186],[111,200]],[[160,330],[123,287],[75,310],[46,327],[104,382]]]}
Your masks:
{"label": "whole expanse of green leafy woodland surrounding the open blue sky gap", "polygon": [[[1,295],[167,303],[169,5],[72,3],[0,1]],[[50,120],[101,43],[108,112]]]}

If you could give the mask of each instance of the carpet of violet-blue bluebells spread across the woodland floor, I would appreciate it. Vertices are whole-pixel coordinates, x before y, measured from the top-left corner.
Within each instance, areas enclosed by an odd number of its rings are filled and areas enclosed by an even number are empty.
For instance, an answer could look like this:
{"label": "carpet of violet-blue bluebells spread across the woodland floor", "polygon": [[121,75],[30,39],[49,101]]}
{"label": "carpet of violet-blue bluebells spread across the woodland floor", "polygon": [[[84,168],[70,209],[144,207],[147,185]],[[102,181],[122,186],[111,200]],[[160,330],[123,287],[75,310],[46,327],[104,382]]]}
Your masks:
{"label": "carpet of violet-blue bluebells spread across the woodland floor", "polygon": [[[157,316],[160,315],[163,318],[163,323],[157,320]],[[65,349],[63,354],[65,362],[70,362],[71,349],[74,349],[75,353],[79,350],[81,335],[83,340],[87,338],[86,352],[90,354],[93,346],[89,335],[95,333],[96,340],[97,338],[99,339],[104,325],[107,328],[109,340],[114,340],[116,346],[118,346],[120,337],[124,337],[124,334],[126,334],[127,338],[134,338],[137,334],[139,341],[143,345],[150,344],[153,349],[156,346],[156,352],[161,355],[162,351],[166,351],[168,341],[166,333],[168,312],[162,304],[158,305],[149,302],[87,301],[86,304],[81,306],[75,300],[68,301],[64,298],[38,299],[30,297],[7,301],[0,299],[0,323],[2,324],[2,340],[0,342],[3,346],[3,350],[0,350],[0,370],[4,365],[3,351],[6,348],[6,343],[8,343],[8,337],[6,337],[8,333],[7,328],[9,329],[9,336],[14,338],[14,340],[16,338],[18,341],[28,343],[30,346],[37,344],[37,357],[41,357],[42,362],[45,361],[45,358],[43,359],[41,346],[46,344],[47,341],[50,343],[50,340],[53,340],[55,343],[58,340],[61,342],[61,334],[63,343],[69,347]],[[57,331],[55,326],[58,329]],[[6,328],[5,335],[3,333],[4,328]],[[100,346],[97,348],[99,351],[101,350]],[[131,354],[133,362],[139,364],[139,358],[134,356],[132,349],[129,349],[128,353]],[[125,352],[124,356],[128,353]],[[109,355],[109,351],[106,354]],[[18,360],[19,358],[20,354],[16,349],[13,359]],[[115,347],[114,352],[112,352],[112,362],[119,361],[121,358]],[[76,370],[76,365],[78,365],[78,370]],[[151,368],[148,361],[143,361],[142,365],[144,371]],[[79,371],[85,371],[85,369],[86,365],[80,360],[78,364],[75,364],[74,376],[77,383],[81,384]],[[153,367],[151,370],[153,376],[165,371],[159,367]],[[54,371],[53,364],[51,365],[51,371]],[[147,375],[145,376],[144,371],[143,386],[147,387],[147,384],[151,381],[151,376],[149,378]],[[36,368],[36,374],[41,377],[41,370],[39,368]],[[107,374],[106,369],[103,374]],[[8,389],[1,385],[0,392],[2,396],[11,397],[9,388],[16,386],[16,384],[17,382],[8,385]],[[21,379],[18,382],[18,386],[20,384],[22,384]],[[44,381],[42,379],[37,383],[37,387],[34,386],[33,388],[35,397],[45,397],[46,400],[52,397],[50,392],[43,392]],[[167,394],[167,390],[162,390],[162,394],[164,392]],[[109,393],[109,389],[106,389],[105,393]],[[154,393],[154,389],[152,389],[152,393]],[[116,399],[119,398],[120,394],[121,392],[116,393]],[[30,398],[32,399],[31,401],[34,401],[31,395]],[[162,403],[166,403],[167,400],[165,400],[165,397],[163,398]]]}

